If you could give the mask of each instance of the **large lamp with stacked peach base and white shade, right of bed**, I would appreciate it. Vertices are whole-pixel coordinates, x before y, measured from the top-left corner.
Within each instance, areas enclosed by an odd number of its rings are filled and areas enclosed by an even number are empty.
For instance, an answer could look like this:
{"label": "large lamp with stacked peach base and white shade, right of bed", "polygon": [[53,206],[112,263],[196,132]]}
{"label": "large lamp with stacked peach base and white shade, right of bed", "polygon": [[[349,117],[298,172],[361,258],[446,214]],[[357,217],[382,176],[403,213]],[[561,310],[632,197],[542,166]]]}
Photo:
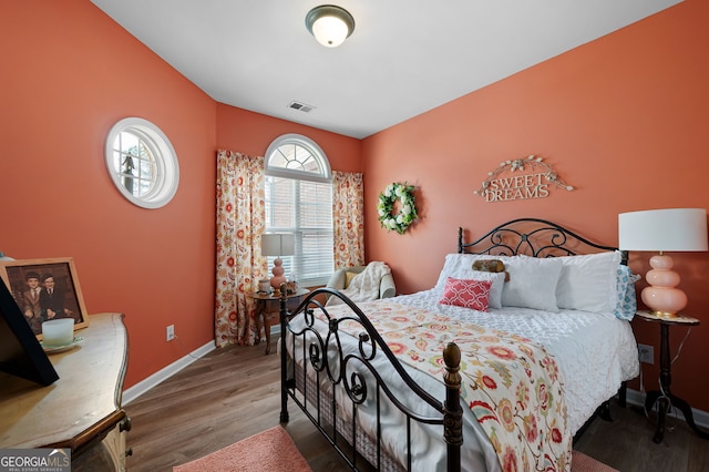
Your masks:
{"label": "large lamp with stacked peach base and white shade, right of bed", "polygon": [[659,252],[650,258],[645,276],[649,284],[640,298],[655,315],[668,318],[687,306],[687,295],[677,286],[679,274],[671,270],[672,258],[664,252],[707,250],[707,211],[668,208],[618,215],[618,247],[621,250]]}

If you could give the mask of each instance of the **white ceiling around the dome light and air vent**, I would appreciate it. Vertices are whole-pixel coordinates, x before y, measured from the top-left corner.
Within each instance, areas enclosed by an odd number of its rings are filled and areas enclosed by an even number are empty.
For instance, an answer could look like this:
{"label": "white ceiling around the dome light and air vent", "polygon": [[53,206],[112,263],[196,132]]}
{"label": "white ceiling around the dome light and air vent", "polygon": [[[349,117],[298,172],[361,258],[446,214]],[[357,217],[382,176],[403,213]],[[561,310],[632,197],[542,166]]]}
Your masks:
{"label": "white ceiling around the dome light and air vent", "polygon": [[361,138],[681,0],[338,0],[333,49],[314,0],[91,1],[217,102]]}

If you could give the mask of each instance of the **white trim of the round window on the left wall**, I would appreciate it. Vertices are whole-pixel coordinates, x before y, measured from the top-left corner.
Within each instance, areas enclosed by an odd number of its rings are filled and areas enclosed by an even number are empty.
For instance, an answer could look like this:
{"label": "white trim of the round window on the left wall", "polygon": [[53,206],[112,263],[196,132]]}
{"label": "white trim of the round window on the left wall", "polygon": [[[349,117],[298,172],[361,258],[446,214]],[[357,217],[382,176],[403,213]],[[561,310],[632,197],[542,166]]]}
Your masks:
{"label": "white trim of the round window on the left wall", "polygon": [[[123,185],[121,173],[116,172],[113,162],[116,137],[123,133],[132,133],[138,136],[153,152],[155,157],[155,184],[154,188],[144,196],[137,197]],[[177,154],[172,143],[155,124],[141,117],[125,117],[115,123],[105,142],[105,164],[113,185],[132,204],[142,208],[161,208],[173,199],[179,185],[179,164]]]}

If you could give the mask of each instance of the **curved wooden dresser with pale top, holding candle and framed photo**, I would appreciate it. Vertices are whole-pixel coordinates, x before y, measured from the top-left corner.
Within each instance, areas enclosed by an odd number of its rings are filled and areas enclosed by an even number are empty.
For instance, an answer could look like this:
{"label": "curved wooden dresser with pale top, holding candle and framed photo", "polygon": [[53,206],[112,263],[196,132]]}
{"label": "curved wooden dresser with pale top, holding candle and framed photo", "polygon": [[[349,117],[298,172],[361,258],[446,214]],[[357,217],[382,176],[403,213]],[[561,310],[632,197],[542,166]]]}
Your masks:
{"label": "curved wooden dresser with pale top, holding candle and framed photo", "polygon": [[114,470],[123,471],[124,431],[131,429],[121,408],[127,366],[123,315],[91,315],[75,336],[83,342],[49,356],[59,374],[51,386],[0,373],[0,448],[70,448],[72,470],[79,470],[76,458],[101,445]]}

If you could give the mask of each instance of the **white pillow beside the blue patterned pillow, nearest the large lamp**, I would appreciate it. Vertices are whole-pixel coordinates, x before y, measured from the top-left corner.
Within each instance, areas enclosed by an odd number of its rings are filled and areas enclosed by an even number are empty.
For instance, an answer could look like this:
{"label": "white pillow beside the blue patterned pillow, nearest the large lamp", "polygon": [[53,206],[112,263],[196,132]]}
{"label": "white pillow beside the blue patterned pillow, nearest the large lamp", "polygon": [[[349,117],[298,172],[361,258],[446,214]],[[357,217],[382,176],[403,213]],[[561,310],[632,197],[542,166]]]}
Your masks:
{"label": "white pillow beside the blue patterned pillow, nearest the large lamp", "polygon": [[559,308],[612,314],[618,300],[620,253],[558,257],[562,275],[556,287]]}

